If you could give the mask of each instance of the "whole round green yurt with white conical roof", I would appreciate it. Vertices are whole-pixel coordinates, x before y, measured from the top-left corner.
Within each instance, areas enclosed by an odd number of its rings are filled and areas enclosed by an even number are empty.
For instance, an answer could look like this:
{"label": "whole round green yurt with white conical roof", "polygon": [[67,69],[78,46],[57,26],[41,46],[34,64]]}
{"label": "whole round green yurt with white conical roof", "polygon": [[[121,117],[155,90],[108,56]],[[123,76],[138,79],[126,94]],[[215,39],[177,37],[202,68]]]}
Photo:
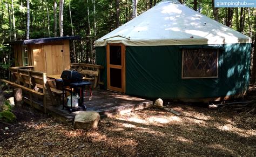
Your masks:
{"label": "whole round green yurt with white conical roof", "polygon": [[160,2],[96,41],[104,88],[146,98],[241,97],[251,39],[177,1]]}

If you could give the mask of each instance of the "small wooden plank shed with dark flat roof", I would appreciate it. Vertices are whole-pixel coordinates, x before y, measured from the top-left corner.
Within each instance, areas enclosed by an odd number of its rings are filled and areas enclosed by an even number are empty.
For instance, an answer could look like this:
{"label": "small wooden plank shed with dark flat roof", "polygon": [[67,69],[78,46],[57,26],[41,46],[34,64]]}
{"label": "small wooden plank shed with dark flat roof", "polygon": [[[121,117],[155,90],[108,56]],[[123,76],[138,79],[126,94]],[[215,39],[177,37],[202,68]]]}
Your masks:
{"label": "small wooden plank shed with dark flat roof", "polygon": [[48,75],[69,70],[70,40],[80,36],[28,39],[9,42],[15,55],[15,66],[34,66],[35,71]]}

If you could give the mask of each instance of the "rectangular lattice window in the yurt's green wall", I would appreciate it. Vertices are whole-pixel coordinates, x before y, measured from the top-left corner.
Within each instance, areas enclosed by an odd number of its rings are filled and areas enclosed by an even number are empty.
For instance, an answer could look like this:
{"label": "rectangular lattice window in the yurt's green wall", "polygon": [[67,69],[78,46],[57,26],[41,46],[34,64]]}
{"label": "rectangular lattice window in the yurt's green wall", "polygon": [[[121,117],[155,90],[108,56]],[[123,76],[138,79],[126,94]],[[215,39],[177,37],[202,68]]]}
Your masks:
{"label": "rectangular lattice window in the yurt's green wall", "polygon": [[218,78],[218,49],[183,49],[182,78]]}

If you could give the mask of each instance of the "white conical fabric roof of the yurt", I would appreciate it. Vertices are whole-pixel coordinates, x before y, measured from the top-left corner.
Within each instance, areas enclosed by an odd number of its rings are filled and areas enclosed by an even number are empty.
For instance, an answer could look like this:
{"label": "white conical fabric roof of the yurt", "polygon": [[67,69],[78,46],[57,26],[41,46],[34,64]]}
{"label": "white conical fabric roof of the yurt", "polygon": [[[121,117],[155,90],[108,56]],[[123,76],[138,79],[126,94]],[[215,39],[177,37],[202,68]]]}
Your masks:
{"label": "white conical fabric roof of the yurt", "polygon": [[96,40],[96,46],[205,45],[251,43],[251,38],[194,11],[176,0],[150,10]]}

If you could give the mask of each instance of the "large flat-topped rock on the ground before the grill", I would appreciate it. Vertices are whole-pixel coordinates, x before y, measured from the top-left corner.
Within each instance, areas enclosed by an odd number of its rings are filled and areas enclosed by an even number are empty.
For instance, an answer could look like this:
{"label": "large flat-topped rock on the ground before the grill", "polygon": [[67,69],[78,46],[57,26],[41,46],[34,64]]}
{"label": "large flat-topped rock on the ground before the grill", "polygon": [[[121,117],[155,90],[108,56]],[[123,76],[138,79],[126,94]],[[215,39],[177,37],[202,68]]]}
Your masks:
{"label": "large flat-topped rock on the ground before the grill", "polygon": [[75,129],[96,128],[100,120],[99,113],[94,111],[80,111],[74,120]]}

